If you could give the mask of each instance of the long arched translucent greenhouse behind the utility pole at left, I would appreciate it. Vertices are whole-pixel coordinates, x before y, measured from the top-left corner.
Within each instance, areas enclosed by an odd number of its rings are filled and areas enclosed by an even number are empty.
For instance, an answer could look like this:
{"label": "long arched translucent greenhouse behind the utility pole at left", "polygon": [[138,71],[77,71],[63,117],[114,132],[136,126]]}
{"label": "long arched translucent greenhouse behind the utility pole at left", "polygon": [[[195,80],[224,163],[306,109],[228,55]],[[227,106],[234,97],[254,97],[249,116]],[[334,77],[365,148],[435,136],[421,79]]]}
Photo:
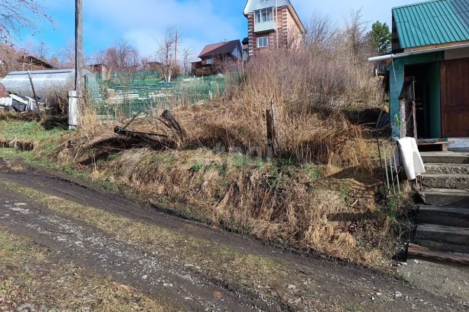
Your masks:
{"label": "long arched translucent greenhouse behind the utility pole at left", "polygon": [[[36,95],[39,98],[47,98],[52,92],[68,92],[74,89],[75,70],[74,69],[53,69],[31,71]],[[11,72],[1,80],[6,91],[20,96],[32,98],[33,91],[27,71]],[[99,98],[99,86],[96,78],[89,71],[83,71],[83,83],[86,90],[94,97]]]}

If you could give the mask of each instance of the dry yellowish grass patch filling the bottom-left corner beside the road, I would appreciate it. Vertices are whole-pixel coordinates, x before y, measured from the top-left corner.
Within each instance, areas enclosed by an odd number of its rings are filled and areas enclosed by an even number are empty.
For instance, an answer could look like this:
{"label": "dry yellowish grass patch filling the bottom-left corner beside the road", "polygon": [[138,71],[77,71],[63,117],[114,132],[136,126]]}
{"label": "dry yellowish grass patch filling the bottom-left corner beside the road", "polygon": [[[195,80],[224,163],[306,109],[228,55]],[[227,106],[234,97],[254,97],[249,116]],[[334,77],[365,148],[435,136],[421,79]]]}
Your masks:
{"label": "dry yellowish grass patch filling the bottom-left corner beside the road", "polygon": [[[52,261],[46,248],[0,228],[0,306],[44,311],[179,311],[110,277]],[[35,308],[33,308],[33,306]],[[4,308],[4,309],[3,309]]]}

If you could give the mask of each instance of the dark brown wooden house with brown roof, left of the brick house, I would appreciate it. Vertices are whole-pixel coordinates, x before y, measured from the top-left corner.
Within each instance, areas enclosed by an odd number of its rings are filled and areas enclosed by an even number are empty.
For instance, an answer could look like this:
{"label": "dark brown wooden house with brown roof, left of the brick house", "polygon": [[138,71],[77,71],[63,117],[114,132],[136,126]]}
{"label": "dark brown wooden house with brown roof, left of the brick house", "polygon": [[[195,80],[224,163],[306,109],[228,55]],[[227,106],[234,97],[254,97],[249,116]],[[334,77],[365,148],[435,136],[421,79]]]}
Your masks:
{"label": "dark brown wooden house with brown roof, left of the brick house", "polygon": [[241,41],[232,40],[209,44],[199,55],[201,61],[192,63],[192,75],[210,76],[230,70],[230,66],[242,60]]}

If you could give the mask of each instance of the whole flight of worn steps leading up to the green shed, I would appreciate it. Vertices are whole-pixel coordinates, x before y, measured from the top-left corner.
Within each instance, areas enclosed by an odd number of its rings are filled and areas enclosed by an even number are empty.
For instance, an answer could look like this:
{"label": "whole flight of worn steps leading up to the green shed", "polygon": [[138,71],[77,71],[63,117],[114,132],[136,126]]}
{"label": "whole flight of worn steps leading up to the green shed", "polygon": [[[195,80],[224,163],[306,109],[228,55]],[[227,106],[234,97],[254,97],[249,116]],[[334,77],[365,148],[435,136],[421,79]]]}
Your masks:
{"label": "whole flight of worn steps leading up to the green shed", "polygon": [[469,265],[469,153],[421,156],[424,204],[408,254]]}

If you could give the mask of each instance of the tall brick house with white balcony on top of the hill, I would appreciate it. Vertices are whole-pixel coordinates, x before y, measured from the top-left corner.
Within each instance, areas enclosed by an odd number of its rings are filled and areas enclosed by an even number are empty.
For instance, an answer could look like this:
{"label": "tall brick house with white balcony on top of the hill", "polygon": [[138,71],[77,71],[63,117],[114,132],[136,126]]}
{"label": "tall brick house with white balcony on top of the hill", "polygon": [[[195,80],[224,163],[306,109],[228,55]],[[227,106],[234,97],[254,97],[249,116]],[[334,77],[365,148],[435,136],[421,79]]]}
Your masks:
{"label": "tall brick house with white balcony on top of the hill", "polygon": [[248,0],[248,55],[268,48],[298,47],[306,32],[290,0]]}

